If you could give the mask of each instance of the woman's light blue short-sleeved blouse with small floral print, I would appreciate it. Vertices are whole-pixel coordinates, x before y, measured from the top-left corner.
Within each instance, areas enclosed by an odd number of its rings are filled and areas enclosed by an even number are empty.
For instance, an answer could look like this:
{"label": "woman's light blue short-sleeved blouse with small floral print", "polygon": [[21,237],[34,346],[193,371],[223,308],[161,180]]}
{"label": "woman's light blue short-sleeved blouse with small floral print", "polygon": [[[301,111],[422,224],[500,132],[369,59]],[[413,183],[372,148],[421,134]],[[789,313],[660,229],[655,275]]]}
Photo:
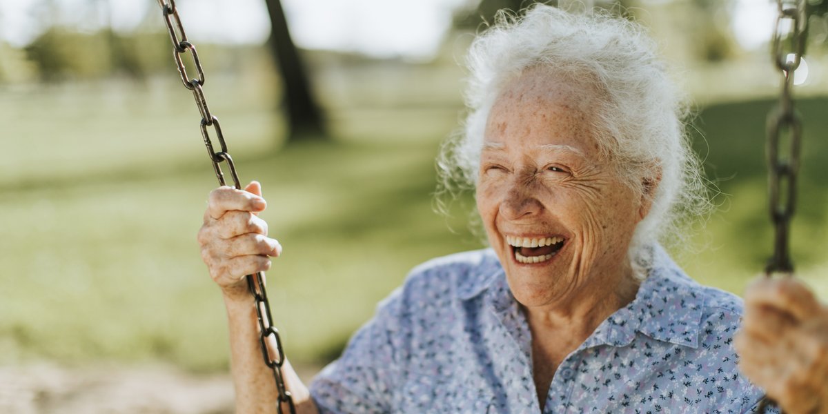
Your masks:
{"label": "woman's light blue short-sleeved blouse with small floral print", "polygon": [[[557,368],[544,413],[753,412],[736,368],[742,301],[662,248],[628,306]],[[541,412],[531,334],[490,249],[416,267],[310,386],[320,412]]]}

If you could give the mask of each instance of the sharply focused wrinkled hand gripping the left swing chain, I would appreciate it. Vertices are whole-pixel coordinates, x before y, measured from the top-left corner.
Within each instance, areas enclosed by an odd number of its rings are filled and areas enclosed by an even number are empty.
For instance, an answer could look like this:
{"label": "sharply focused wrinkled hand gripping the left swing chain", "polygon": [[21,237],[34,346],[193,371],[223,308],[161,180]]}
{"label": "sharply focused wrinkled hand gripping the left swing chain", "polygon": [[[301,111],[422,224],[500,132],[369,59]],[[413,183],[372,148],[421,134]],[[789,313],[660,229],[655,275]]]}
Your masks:
{"label": "sharply focused wrinkled hand gripping the left swing chain", "polygon": [[265,272],[282,246],[267,237],[258,213],[267,207],[257,181],[244,190],[221,186],[209,193],[204,224],[198,233],[201,258],[228,299],[248,297],[245,275]]}

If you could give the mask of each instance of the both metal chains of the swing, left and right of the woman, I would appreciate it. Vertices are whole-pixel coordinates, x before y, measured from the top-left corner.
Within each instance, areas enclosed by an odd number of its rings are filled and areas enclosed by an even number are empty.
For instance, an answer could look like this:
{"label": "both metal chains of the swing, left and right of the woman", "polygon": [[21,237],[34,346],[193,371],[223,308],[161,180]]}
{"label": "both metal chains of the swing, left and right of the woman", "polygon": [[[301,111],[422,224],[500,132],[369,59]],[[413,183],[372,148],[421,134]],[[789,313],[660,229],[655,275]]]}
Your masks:
{"label": "both metal chains of the swing, left and right of the woman", "polygon": [[[181,81],[185,88],[192,92],[196,107],[199,109],[201,135],[204,138],[205,147],[219,185],[226,185],[224,171],[221,168],[221,163],[224,162],[229,168],[234,187],[240,190],[242,187],[238,179],[238,173],[224,141],[219,119],[210,113],[205,99],[203,89],[205,84],[204,70],[200,65],[195,46],[187,40],[184,27],[176,10],[175,0],[157,1],[170,34],[173,56],[181,75]],[[587,4],[591,5],[591,2]],[[767,128],[769,209],[775,237],[773,256],[764,269],[764,275],[765,277],[773,277],[779,274],[784,275],[784,277],[793,277],[789,233],[790,221],[796,205],[796,179],[802,138],[802,117],[793,105],[792,84],[793,72],[800,65],[805,50],[808,14],[804,0],[795,0],[793,4],[786,0],[777,0],[777,11],[778,16],[773,27],[772,57],[774,65],[781,75],[782,90],[779,102],[768,113]],[[784,21],[791,22],[790,30],[787,33],[782,33],[780,27]],[[790,43],[788,45],[792,50],[790,54],[785,53],[785,45],[783,44],[785,40]],[[186,72],[181,55],[186,54],[187,51],[190,51],[190,55],[192,55],[197,78],[190,79]],[[213,128],[215,137],[219,142],[220,151],[218,152],[214,149],[209,135],[209,128]],[[788,141],[787,152],[781,151],[783,149],[782,141],[785,139]],[[285,404],[289,412],[295,414],[296,408],[291,392],[287,391],[282,378],[281,368],[286,358],[279,331],[271,325],[272,315],[267,301],[267,291],[265,290],[265,275],[263,272],[258,272],[257,274],[248,275],[246,279],[257,313],[262,357],[267,367],[272,369],[277,388],[277,412],[281,414],[283,411],[282,404]],[[764,412],[767,407],[774,405],[773,400],[770,400],[767,396],[763,397],[758,404],[758,412]]]}

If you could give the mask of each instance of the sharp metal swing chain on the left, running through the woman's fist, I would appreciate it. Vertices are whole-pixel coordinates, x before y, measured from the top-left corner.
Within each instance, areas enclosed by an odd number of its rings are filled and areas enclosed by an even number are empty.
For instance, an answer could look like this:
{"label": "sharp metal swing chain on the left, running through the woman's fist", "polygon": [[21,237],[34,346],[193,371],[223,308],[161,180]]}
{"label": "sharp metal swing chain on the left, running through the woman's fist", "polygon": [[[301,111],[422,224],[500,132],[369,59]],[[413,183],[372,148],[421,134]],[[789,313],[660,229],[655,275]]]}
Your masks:
{"label": "sharp metal swing chain on the left, running through the woman's fist", "polygon": [[[226,162],[230,170],[230,176],[233,178],[233,185],[235,185],[237,190],[241,190],[242,185],[238,181],[236,166],[233,164],[233,158],[227,150],[227,143],[224,142],[224,135],[221,132],[219,118],[216,118],[209,112],[204,89],[202,89],[205,84],[205,73],[201,68],[201,62],[198,53],[195,51],[195,45],[187,41],[184,26],[181,25],[181,18],[178,16],[178,10],[176,9],[176,2],[175,0],[157,1],[158,5],[161,6],[167,31],[170,32],[173,57],[176,60],[181,81],[184,83],[186,89],[192,91],[193,97],[195,98],[195,106],[199,108],[199,113],[201,114],[201,136],[204,137],[205,147],[207,147],[207,153],[209,154],[210,161],[212,161],[215,176],[219,179],[220,185],[226,185],[224,172],[221,170],[221,163]],[[187,75],[181,55],[186,54],[188,51],[192,55],[198,78],[189,79]],[[208,128],[211,127],[214,129],[215,136],[219,140],[219,148],[221,150],[219,152],[214,150],[213,142],[209,137]],[[287,391],[284,378],[282,377],[282,365],[286,360],[285,353],[282,350],[282,338],[279,336],[279,331],[275,326],[271,325],[273,317],[270,311],[270,302],[267,301],[264,272],[248,275],[246,278],[248,290],[255,301],[254,306],[258,320],[259,343],[262,345],[262,358],[264,359],[264,363],[267,364],[267,367],[271,368],[273,380],[276,383],[277,413],[282,414],[282,404],[284,404],[288,407],[291,414],[296,414],[293,397],[291,397],[291,392]]]}

